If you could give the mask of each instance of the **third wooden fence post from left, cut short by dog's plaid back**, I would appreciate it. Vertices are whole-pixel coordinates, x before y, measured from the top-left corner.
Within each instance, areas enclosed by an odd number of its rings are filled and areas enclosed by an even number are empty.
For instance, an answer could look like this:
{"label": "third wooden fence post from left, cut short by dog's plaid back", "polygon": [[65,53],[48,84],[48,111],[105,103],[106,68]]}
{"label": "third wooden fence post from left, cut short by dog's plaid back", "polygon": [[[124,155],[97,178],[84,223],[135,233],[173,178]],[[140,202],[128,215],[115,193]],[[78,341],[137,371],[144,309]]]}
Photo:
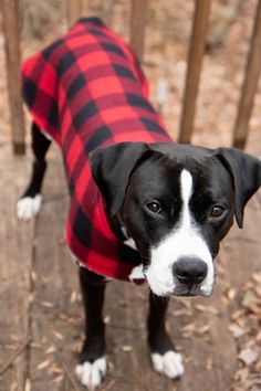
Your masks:
{"label": "third wooden fence post from left, cut short by dog's plaid back", "polygon": [[130,46],[139,61],[143,61],[146,27],[147,0],[132,0]]}

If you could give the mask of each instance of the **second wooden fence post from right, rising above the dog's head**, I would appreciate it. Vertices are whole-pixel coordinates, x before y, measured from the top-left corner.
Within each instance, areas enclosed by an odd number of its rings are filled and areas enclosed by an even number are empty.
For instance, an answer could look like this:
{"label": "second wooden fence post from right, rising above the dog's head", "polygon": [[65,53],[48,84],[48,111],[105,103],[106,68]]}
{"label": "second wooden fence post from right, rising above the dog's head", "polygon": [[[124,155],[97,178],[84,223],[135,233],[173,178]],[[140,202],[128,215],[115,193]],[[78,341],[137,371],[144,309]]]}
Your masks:
{"label": "second wooden fence post from right, rising above the dog's head", "polygon": [[189,43],[188,68],[178,137],[179,142],[188,144],[192,135],[196,98],[208,33],[209,11],[210,0],[195,1],[194,25]]}

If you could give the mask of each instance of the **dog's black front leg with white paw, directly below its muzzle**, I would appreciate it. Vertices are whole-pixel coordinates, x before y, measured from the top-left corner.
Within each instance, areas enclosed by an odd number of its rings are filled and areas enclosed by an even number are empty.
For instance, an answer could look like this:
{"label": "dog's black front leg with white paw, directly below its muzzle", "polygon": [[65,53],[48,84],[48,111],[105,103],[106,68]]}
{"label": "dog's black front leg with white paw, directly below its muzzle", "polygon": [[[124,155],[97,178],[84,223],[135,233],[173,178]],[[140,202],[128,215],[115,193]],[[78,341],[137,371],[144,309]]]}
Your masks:
{"label": "dog's black front leg with white paw, directly below its muzzle", "polygon": [[168,378],[177,379],[184,373],[184,366],[182,357],[175,351],[165,327],[168,300],[166,297],[149,294],[148,345],[154,369]]}

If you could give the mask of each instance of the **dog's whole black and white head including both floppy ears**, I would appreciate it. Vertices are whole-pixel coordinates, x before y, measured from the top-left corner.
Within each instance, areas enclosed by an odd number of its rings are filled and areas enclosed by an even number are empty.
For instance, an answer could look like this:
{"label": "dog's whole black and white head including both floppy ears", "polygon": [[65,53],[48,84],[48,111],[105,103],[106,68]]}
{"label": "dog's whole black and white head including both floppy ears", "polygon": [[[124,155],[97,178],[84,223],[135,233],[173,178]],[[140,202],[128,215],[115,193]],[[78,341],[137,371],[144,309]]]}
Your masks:
{"label": "dog's whole black and white head including both floppy ears", "polygon": [[261,184],[259,159],[233,148],[123,142],[91,154],[112,222],[142,254],[158,296],[208,296],[213,260]]}

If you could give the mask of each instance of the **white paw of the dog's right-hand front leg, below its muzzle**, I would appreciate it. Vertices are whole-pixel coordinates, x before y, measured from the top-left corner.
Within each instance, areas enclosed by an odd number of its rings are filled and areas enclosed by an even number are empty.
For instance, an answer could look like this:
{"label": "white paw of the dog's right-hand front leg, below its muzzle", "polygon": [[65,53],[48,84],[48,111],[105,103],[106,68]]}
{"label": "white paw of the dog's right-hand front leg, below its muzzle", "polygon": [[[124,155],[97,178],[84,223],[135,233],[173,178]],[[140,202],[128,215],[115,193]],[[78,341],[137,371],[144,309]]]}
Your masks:
{"label": "white paw of the dog's right-hand front leg, below its muzzle", "polygon": [[170,379],[179,378],[184,374],[182,356],[173,350],[165,355],[152,353],[154,369],[166,374]]}

